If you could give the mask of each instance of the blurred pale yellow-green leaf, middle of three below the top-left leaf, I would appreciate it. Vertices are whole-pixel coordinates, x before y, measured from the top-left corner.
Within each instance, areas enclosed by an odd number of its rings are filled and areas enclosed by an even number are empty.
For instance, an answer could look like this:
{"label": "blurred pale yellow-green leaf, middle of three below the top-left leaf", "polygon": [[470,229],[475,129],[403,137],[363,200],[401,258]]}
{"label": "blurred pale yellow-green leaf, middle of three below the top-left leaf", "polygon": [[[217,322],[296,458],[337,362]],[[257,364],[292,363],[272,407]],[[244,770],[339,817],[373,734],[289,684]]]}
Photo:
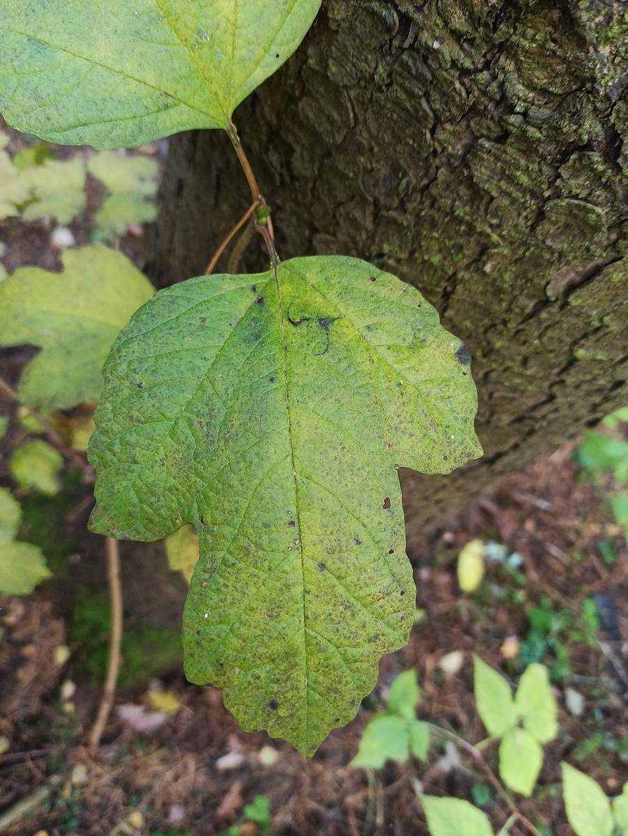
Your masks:
{"label": "blurred pale yellow-green leaf, middle of three below the top-left leaf", "polygon": [[43,166],[25,169],[23,178],[35,197],[22,213],[24,221],[50,216],[69,223],[84,212],[85,164],[80,157],[46,161]]}

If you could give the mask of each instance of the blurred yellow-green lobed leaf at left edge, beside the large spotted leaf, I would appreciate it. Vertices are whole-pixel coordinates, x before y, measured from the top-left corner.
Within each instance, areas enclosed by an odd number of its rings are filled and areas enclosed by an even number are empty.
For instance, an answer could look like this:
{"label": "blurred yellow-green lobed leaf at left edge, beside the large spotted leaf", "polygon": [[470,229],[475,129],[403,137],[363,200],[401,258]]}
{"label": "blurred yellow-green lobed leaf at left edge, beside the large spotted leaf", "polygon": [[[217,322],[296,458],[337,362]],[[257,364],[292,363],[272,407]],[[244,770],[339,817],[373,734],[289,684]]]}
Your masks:
{"label": "blurred yellow-green lobed leaf at left edge, beside the large spotted leaf", "polygon": [[67,250],[64,273],[25,267],[0,282],[3,345],[43,351],[23,372],[20,399],[45,409],[98,400],[107,352],[130,315],[151,297],[151,283],[121,252]]}

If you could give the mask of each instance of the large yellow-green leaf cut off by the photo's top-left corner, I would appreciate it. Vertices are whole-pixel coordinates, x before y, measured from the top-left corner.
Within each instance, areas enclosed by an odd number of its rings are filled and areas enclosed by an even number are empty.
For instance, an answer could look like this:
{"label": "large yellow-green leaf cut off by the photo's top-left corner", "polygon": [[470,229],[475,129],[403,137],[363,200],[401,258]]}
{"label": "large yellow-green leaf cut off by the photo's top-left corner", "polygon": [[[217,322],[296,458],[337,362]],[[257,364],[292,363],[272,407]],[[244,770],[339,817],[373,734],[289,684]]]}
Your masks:
{"label": "large yellow-green leaf cut off by the photo's top-left corner", "polygon": [[226,128],[289,58],[320,0],[4,0],[0,102],[65,145],[142,145]]}

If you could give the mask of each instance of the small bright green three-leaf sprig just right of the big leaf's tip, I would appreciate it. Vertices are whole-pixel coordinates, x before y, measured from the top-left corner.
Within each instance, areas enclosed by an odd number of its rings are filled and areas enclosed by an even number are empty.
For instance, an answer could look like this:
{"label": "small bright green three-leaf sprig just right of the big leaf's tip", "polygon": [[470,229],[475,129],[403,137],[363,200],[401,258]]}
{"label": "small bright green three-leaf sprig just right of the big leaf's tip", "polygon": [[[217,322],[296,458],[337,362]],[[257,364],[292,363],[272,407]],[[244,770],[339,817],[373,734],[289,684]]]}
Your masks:
{"label": "small bright green three-leaf sprig just right of the big leaf's tip", "polygon": [[412,754],[425,760],[430,729],[416,719],[420,690],[416,670],[405,670],[391,685],[388,705],[365,728],[352,767],[380,769],[387,760],[404,762]]}

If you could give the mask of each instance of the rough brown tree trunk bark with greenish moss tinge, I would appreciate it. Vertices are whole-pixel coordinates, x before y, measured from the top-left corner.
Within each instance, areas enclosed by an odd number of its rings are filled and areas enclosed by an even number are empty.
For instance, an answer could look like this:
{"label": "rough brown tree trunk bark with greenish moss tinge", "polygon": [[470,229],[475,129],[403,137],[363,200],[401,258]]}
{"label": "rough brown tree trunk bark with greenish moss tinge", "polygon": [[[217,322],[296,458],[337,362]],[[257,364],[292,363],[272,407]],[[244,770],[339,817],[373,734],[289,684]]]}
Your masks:
{"label": "rough brown tree trunk bark with greenish moss tinge", "polygon": [[[396,273],[472,354],[485,456],[402,477],[410,533],[628,400],[625,18],[623,0],[328,0],[236,113],[281,257]],[[162,198],[171,283],[248,205],[227,137],[172,140]]]}

